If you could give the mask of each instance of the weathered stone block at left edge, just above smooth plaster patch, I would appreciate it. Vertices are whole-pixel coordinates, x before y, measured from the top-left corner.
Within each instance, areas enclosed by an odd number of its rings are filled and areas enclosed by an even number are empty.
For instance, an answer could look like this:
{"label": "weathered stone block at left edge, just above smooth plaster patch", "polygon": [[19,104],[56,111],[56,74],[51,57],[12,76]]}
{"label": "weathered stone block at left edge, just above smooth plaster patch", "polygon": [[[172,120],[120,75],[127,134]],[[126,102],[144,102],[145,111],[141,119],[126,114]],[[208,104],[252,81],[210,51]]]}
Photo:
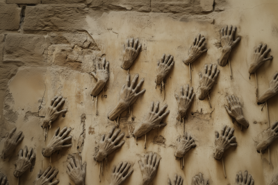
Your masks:
{"label": "weathered stone block at left edge, just above smooth plaster patch", "polygon": [[42,35],[6,35],[3,62],[44,64],[44,49]]}

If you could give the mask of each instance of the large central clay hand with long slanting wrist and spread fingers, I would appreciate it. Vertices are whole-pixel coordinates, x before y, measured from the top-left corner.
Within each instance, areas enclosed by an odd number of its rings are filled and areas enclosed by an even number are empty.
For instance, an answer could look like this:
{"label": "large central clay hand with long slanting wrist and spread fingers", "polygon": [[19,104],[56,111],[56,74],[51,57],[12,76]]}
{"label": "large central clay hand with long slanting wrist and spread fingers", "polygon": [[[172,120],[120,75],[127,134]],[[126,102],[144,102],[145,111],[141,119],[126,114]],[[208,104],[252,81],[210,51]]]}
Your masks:
{"label": "large central clay hand with long slanting wrist and spread fingers", "polygon": [[115,120],[117,116],[120,116],[122,112],[124,112],[125,109],[127,109],[129,106],[131,106],[137,98],[140,96],[140,94],[145,93],[146,89],[142,89],[142,91],[137,91],[140,89],[144,82],[144,78],[136,85],[136,80],[138,79],[139,75],[136,74],[134,76],[131,85],[129,86],[129,80],[130,80],[130,74],[127,74],[126,76],[126,84],[122,86],[121,92],[120,92],[120,103],[117,104],[117,107],[115,107],[109,114],[108,118],[110,120]]}

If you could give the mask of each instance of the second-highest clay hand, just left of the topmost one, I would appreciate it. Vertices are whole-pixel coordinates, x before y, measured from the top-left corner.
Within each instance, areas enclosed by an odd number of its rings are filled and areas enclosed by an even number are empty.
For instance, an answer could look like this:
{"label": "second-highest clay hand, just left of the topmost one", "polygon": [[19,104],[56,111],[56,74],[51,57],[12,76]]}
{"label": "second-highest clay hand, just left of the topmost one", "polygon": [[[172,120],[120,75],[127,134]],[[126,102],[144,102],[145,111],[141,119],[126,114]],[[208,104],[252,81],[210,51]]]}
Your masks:
{"label": "second-highest clay hand, just left of the topmost one", "polygon": [[198,34],[198,36],[195,37],[193,44],[190,46],[188,58],[183,60],[186,65],[192,64],[197,58],[199,58],[199,56],[202,55],[202,53],[208,51],[208,49],[204,49],[205,39],[206,38],[204,36],[201,38],[201,34]]}

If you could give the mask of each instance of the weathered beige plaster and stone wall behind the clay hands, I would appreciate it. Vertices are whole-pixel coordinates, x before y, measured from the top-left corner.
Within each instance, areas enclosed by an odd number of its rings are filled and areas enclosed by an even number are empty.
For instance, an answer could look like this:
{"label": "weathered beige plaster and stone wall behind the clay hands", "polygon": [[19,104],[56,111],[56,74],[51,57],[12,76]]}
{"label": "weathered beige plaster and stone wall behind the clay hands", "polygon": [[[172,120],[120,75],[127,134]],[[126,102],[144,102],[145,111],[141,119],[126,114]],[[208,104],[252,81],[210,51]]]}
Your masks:
{"label": "weathered beige plaster and stone wall behind the clay hands", "polygon": [[[57,126],[72,127],[72,148],[55,152],[51,165],[60,170],[60,184],[73,184],[66,174],[66,160],[70,153],[79,152],[87,161],[85,184],[108,184],[111,167],[119,161],[133,164],[134,172],[124,184],[140,184],[142,175],[138,160],[144,152],[153,151],[161,155],[161,164],[152,184],[166,184],[167,177],[174,173],[182,175],[184,184],[190,184],[193,175],[201,172],[211,184],[234,184],[239,170],[248,170],[255,184],[270,184],[278,172],[278,142],[268,152],[256,152],[256,137],[268,127],[266,109],[256,104],[256,82],[249,79],[249,64],[254,47],[260,42],[272,49],[272,62],[265,62],[257,71],[259,94],[268,88],[273,73],[278,69],[278,3],[275,0],[1,0],[0,1],[0,113],[1,139],[13,127],[24,132],[25,138],[16,148],[13,157],[0,159],[0,171],[8,176],[10,184],[16,184],[13,176],[17,153],[24,146],[37,152],[33,172],[27,171],[20,184],[33,184],[40,168],[49,166],[49,159],[42,157],[41,150],[49,143]],[[186,119],[186,131],[193,134],[197,147],[185,157],[185,168],[174,157],[177,137],[182,134],[182,124],[176,121],[177,102],[175,93],[181,85],[190,83],[196,92],[199,86],[198,73],[204,64],[218,64],[220,57],[220,28],[224,25],[238,27],[236,35],[242,37],[230,56],[233,79],[229,76],[229,65],[219,67],[220,76],[208,98],[196,100],[190,107]],[[188,55],[193,38],[201,33],[206,37],[208,52],[193,64],[193,80],[189,80],[188,66],[182,60]],[[104,163],[104,175],[99,182],[99,164],[93,155],[101,134],[115,124],[108,120],[108,113],[120,99],[120,89],[125,83],[126,71],[121,69],[123,47],[129,37],[138,37],[142,50],[129,69],[131,78],[139,73],[145,78],[147,91],[133,104],[134,120],[129,121],[129,112],[123,112],[120,128],[126,133],[124,146],[108,156]],[[165,80],[165,100],[159,88],[155,88],[154,69],[163,53],[174,55],[174,68]],[[90,89],[96,80],[89,75],[97,57],[106,57],[110,62],[110,78],[98,98],[98,116],[92,104]],[[225,97],[235,94],[243,102],[243,112],[250,127],[242,131],[233,124],[224,109]],[[49,130],[47,141],[43,141],[40,122],[44,107],[51,98],[62,95],[66,98],[63,107],[68,109]],[[147,115],[151,101],[167,103],[170,114],[163,122],[166,127],[147,134],[147,149],[144,137],[135,139],[131,132]],[[278,96],[268,101],[270,123],[278,119]],[[41,110],[39,112],[39,109]],[[83,121],[81,116],[85,114]],[[222,163],[213,158],[215,130],[222,125],[234,127],[238,146],[224,154],[227,179]],[[158,138],[159,136],[159,138]],[[162,136],[162,137],[161,137]],[[83,146],[79,138],[85,138]],[[164,139],[163,139],[164,138]],[[83,147],[82,150],[80,147]],[[3,147],[1,141],[0,147]]]}

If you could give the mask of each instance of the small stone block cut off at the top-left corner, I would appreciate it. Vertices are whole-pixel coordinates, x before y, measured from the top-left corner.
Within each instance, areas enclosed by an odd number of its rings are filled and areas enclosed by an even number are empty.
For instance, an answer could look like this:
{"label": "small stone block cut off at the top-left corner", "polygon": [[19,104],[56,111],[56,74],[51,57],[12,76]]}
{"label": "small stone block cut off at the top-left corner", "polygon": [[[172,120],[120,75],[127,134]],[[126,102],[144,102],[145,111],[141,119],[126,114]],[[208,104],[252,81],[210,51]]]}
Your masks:
{"label": "small stone block cut off at the top-left corner", "polygon": [[18,30],[21,10],[17,5],[1,4],[0,30]]}

